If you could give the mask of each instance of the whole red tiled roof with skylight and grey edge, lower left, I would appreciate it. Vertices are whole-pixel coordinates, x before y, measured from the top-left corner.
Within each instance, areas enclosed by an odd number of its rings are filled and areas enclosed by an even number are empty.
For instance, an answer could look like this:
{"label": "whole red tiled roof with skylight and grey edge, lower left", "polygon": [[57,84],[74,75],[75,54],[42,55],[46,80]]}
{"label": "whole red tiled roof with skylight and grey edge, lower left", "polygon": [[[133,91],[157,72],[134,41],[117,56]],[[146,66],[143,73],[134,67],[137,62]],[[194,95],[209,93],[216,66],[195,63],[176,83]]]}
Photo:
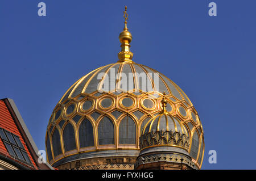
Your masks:
{"label": "whole red tiled roof with skylight and grey edge, lower left", "polygon": [[13,99],[0,99],[0,131],[0,159],[19,169],[53,169],[47,162],[39,163],[38,148]]}

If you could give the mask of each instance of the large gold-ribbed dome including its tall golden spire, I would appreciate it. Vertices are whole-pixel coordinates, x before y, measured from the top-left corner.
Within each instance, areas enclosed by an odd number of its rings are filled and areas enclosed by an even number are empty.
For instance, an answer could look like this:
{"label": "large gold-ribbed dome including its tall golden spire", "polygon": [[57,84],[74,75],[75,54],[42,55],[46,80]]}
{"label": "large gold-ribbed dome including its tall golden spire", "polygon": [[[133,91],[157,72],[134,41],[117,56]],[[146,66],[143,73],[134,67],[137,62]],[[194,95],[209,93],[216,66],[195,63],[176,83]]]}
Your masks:
{"label": "large gold-ribbed dome including its tall golden spire", "polygon": [[131,34],[123,32],[119,61],[84,75],[54,108],[46,132],[48,162],[69,169],[67,165],[74,162],[98,167],[115,160],[133,169],[139,155],[139,133],[162,112],[162,92],[166,92],[166,115],[179,119],[183,132],[192,138],[189,145],[195,146],[189,146],[188,153],[200,168],[204,138],[197,111],[169,78],[131,61]]}

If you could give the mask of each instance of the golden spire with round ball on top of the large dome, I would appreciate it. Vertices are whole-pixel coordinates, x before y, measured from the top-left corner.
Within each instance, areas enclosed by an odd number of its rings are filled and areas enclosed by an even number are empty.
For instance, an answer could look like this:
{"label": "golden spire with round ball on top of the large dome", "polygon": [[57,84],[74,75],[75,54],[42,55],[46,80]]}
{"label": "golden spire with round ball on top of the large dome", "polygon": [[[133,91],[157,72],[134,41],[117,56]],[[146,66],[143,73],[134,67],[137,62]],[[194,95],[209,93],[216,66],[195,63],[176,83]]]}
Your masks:
{"label": "golden spire with round ball on top of the large dome", "polygon": [[118,62],[133,62],[131,59],[133,58],[133,53],[130,52],[130,43],[133,37],[131,36],[131,33],[128,31],[127,28],[127,20],[128,20],[128,14],[127,14],[127,6],[125,6],[125,11],[123,11],[123,18],[125,18],[125,27],[123,28],[123,31],[119,34],[119,41],[121,43],[121,52],[118,53]]}

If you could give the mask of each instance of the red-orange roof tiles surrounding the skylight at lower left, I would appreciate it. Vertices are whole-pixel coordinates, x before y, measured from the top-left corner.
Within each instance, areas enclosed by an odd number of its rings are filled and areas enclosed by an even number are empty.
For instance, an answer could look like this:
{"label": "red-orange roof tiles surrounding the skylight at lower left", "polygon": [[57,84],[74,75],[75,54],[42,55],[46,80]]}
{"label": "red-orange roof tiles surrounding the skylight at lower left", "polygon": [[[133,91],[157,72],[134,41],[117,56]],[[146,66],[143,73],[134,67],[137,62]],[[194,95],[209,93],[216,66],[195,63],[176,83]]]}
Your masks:
{"label": "red-orange roof tiles surrounding the skylight at lower left", "polygon": [[[25,150],[27,151],[28,157],[30,157],[30,159],[31,159],[32,165],[34,165],[34,167],[36,169],[38,169],[35,165],[34,160],[31,157],[30,151],[28,151],[26,143],[24,142],[22,135],[19,132],[19,129],[17,128],[17,126],[13,120],[13,117],[11,116],[11,113],[9,112],[9,110],[8,110],[5,102],[3,102],[3,100],[0,100],[0,127],[19,136],[20,141],[22,142],[22,145],[24,146]],[[7,157],[11,157],[11,155],[9,155],[9,153],[6,150],[5,145],[3,145],[3,142],[1,139],[0,139],[0,153],[6,154]]]}

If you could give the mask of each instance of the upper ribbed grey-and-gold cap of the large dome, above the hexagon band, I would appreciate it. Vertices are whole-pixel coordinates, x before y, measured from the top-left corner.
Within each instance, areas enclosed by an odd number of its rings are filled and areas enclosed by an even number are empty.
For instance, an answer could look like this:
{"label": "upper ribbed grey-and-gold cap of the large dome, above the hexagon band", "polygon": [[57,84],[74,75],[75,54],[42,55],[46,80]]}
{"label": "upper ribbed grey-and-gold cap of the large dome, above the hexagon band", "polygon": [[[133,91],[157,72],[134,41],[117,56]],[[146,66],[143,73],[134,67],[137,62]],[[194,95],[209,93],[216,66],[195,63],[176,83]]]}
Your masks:
{"label": "upper ribbed grey-and-gold cap of the large dome, above the hexagon band", "polygon": [[[118,83],[123,75],[127,79],[129,75],[133,78],[129,79],[130,82],[126,81],[126,84],[123,85],[120,82]],[[155,82],[155,79],[158,82]],[[100,82],[100,87],[98,87]],[[109,87],[103,87],[106,82],[108,82]],[[104,91],[104,89],[109,90],[108,92],[112,92],[115,95],[119,94],[120,91],[137,91],[135,95],[139,94],[139,91],[142,93],[153,92],[156,93],[154,95],[156,98],[159,96],[157,93],[162,94],[162,92],[166,92],[167,95],[172,95],[177,100],[185,100],[189,106],[193,106],[184,92],[166,76],[147,66],[128,62],[117,62],[91,71],[71,86],[59,103],[63,103],[67,98],[75,98],[82,93],[91,94],[97,90]]]}

